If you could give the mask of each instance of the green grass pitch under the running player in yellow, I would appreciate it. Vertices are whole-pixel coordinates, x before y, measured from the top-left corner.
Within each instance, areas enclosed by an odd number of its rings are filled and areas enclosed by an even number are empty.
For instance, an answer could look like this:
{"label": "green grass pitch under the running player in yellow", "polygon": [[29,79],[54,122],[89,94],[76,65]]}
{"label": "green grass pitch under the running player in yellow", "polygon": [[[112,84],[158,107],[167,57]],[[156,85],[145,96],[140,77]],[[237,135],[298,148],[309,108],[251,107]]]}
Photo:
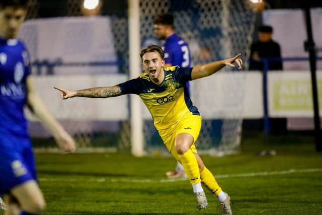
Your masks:
{"label": "green grass pitch under the running player in yellow", "polygon": [[[205,165],[231,195],[233,214],[322,213],[322,153],[315,152],[312,137],[265,140],[248,134],[241,146],[240,155],[203,156]],[[257,156],[263,149],[274,149],[277,156]],[[172,158],[134,158],[123,152],[36,154],[36,159],[47,201],[43,214],[220,214],[219,203],[208,191],[209,206],[199,211],[188,181],[161,181],[175,167]],[[317,170],[277,174],[291,169]],[[263,172],[277,173],[237,177]]]}

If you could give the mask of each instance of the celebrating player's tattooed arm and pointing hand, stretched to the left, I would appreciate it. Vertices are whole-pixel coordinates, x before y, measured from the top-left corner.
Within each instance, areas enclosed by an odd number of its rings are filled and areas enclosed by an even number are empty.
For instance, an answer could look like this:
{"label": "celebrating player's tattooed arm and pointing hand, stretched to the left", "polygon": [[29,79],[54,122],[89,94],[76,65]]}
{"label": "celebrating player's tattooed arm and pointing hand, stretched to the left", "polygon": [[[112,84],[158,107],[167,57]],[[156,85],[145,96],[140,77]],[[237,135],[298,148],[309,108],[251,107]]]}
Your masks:
{"label": "celebrating player's tattooed arm and pointing hand, stretched to the left", "polygon": [[112,87],[95,87],[77,91],[64,90],[58,87],[54,88],[61,92],[60,97],[62,99],[68,99],[75,96],[89,98],[108,98],[123,95],[118,85]]}

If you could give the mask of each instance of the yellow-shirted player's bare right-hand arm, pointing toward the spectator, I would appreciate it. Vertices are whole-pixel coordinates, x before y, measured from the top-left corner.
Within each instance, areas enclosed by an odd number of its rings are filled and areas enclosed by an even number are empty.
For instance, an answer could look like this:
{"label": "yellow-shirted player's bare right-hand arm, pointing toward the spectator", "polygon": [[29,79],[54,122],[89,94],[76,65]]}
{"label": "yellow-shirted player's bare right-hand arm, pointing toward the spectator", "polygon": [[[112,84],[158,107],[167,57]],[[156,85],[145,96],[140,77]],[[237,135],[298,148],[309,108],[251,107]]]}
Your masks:
{"label": "yellow-shirted player's bare right-hand arm, pointing toward the spectator", "polygon": [[233,64],[234,62],[237,64],[238,69],[241,69],[241,65],[243,65],[243,60],[239,58],[240,55],[241,54],[237,54],[236,56],[228,59],[214,61],[211,63],[197,65],[193,67],[192,73],[191,73],[191,80],[210,76],[226,65],[229,67],[235,67],[235,65]]}

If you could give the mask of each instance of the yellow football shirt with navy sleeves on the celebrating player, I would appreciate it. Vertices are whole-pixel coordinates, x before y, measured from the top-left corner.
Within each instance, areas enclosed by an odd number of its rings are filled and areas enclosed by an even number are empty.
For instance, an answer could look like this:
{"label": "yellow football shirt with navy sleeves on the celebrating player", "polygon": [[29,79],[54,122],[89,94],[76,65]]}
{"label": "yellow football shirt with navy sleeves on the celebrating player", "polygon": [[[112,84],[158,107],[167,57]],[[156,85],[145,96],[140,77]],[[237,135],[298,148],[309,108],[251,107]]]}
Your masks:
{"label": "yellow football shirt with navy sleeves on the celebrating player", "polygon": [[186,114],[200,115],[189,97],[186,83],[191,81],[192,68],[164,67],[165,79],[154,84],[147,73],[119,84],[123,94],[137,94],[150,111],[154,126],[164,130],[178,123]]}

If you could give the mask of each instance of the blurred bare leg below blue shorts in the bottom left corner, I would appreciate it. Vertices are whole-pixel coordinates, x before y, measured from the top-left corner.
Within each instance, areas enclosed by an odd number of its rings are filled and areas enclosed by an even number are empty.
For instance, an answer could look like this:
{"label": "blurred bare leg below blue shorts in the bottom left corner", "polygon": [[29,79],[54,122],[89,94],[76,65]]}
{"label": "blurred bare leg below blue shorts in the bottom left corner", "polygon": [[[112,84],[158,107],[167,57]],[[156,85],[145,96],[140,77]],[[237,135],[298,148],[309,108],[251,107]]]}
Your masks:
{"label": "blurred bare leg below blue shorts in the bottom left corner", "polygon": [[[19,206],[22,211],[26,211],[31,214],[40,214],[41,211],[45,208],[45,199],[43,197],[43,194],[39,189],[38,184],[33,180],[27,181],[21,185],[14,187],[11,190],[11,194],[19,202]],[[9,202],[9,205],[7,206],[8,211],[12,209],[11,206],[15,207],[14,202]],[[9,215],[16,215],[16,213],[10,212],[11,211],[9,211],[8,213]],[[17,215],[18,214],[20,213],[17,213]]]}

